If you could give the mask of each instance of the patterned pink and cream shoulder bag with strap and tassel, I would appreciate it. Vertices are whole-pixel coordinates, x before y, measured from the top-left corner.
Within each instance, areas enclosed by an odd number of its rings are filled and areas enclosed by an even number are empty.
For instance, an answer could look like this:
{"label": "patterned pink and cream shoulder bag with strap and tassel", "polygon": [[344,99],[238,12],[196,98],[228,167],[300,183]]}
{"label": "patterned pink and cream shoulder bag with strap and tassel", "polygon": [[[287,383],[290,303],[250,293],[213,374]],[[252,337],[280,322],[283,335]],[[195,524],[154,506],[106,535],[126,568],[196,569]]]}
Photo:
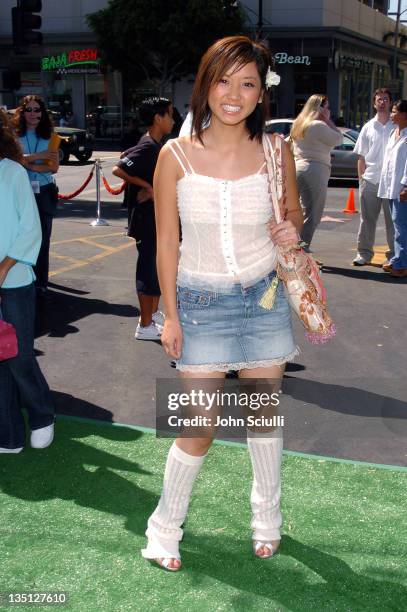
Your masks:
{"label": "patterned pink and cream shoulder bag with strap and tassel", "polygon": [[[270,197],[277,223],[285,218],[285,175],[282,159],[282,139],[275,139],[275,150],[266,135],[263,136],[264,155]],[[271,309],[278,281],[285,285],[288,300],[306,329],[306,338],[313,344],[323,344],[336,333],[326,307],[326,291],[319,267],[314,258],[301,247],[283,250],[277,248],[277,279],[263,295],[260,305]]]}

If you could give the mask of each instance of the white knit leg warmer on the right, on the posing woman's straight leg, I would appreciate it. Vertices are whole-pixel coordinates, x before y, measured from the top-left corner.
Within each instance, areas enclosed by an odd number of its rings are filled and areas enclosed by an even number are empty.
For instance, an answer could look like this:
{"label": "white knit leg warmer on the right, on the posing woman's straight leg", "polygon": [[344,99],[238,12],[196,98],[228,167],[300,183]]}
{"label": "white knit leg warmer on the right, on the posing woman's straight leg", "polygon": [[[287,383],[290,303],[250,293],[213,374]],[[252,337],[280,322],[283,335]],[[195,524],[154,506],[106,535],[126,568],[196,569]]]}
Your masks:
{"label": "white knit leg warmer on the right, on the posing woman's straight leg", "polygon": [[282,524],[280,472],[283,439],[280,431],[274,435],[277,437],[247,438],[253,468],[251,528],[253,540],[261,542],[279,540]]}

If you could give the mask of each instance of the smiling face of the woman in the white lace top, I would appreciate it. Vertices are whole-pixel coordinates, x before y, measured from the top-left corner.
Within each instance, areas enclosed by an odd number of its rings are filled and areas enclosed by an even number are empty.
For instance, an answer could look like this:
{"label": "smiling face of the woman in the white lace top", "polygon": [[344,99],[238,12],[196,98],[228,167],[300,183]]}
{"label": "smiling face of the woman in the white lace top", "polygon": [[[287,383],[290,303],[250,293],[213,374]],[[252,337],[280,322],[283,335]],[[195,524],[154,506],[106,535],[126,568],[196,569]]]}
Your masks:
{"label": "smiling face of the woman in the white lace top", "polygon": [[232,66],[209,90],[208,105],[212,121],[238,125],[252,114],[262,98],[260,75],[255,62],[239,70]]}

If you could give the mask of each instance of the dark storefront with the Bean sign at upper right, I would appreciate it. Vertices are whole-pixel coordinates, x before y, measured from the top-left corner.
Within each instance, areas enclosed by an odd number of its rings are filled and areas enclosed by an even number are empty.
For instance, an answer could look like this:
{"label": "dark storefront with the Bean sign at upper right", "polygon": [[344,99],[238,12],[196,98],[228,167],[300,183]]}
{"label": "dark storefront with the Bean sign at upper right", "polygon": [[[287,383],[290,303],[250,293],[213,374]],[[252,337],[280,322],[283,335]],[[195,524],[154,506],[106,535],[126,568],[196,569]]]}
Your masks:
{"label": "dark storefront with the Bean sign at upper right", "polygon": [[[371,116],[371,100],[378,87],[391,87],[401,96],[404,72],[391,79],[392,48],[362,41],[351,34],[319,29],[303,32],[270,32],[269,44],[276,60],[281,83],[273,92],[272,114],[295,117],[313,93],[327,94],[333,117],[344,125],[360,129]],[[399,61],[407,53],[399,50]]]}

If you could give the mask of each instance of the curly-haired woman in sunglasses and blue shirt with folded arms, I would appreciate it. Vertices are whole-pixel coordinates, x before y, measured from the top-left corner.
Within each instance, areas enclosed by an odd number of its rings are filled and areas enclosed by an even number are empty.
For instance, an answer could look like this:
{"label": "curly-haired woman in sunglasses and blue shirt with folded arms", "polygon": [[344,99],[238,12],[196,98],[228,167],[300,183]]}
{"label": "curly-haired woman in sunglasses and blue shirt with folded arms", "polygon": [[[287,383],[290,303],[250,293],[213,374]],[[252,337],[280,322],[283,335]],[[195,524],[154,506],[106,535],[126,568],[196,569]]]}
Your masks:
{"label": "curly-haired woman in sunglasses and blue shirt with folded arms", "polygon": [[35,274],[37,293],[45,295],[48,285],[49,245],[52,221],[57,210],[57,189],[53,174],[58,172],[58,150],[50,150],[54,129],[39,96],[25,96],[16,110],[14,125],[24,153],[31,187],[40,214],[42,242]]}

